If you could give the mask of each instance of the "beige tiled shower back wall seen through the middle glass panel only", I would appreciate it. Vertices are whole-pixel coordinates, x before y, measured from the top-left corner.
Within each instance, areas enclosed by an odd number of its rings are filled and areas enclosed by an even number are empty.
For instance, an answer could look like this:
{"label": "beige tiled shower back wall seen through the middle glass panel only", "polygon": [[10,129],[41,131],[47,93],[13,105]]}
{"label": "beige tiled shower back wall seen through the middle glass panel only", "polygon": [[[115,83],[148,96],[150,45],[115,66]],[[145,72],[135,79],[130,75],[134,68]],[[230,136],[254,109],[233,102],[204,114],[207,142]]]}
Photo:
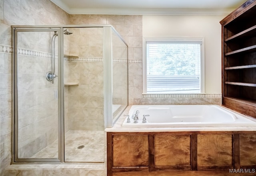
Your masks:
{"label": "beige tiled shower back wall seen through the middle glass panel only", "polygon": [[64,86],[67,130],[104,130],[103,88],[103,28],[69,28],[73,32],[64,38],[64,82],[78,85]]}

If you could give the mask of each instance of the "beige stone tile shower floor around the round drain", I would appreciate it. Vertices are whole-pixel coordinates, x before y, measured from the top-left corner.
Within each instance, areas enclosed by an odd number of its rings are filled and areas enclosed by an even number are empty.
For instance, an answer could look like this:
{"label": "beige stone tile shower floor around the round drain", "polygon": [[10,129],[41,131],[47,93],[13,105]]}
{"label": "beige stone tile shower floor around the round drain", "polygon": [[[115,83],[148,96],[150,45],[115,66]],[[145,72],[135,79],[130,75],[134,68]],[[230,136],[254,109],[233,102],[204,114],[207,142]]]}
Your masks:
{"label": "beige stone tile shower floor around the round drain", "polygon": [[[64,138],[65,162],[104,162],[104,131],[70,130]],[[31,158],[58,158],[57,151],[58,140]]]}

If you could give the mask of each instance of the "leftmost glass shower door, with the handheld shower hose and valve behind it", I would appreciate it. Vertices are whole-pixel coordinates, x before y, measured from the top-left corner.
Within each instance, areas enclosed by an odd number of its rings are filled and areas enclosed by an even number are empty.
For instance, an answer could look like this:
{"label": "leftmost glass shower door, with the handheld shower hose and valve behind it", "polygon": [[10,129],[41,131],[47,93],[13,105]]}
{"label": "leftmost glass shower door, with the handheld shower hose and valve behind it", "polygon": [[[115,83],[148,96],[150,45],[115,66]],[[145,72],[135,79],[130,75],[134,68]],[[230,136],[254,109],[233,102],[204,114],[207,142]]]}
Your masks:
{"label": "leftmost glass shower door, with the handheld shower hose and valve behind it", "polygon": [[15,29],[15,161],[60,161],[60,29]]}

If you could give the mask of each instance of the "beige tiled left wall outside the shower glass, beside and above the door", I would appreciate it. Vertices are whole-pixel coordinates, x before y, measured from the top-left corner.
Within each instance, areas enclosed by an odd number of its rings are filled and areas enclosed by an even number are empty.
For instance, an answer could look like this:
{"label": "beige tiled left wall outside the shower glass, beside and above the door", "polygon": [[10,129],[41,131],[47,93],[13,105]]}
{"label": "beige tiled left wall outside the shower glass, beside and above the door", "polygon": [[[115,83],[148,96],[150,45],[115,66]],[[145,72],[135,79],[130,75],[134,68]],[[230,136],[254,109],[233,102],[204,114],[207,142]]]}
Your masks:
{"label": "beige tiled left wall outside the shower glass, beside and above the door", "polygon": [[0,175],[11,162],[11,25],[68,24],[69,14],[49,0],[0,1]]}

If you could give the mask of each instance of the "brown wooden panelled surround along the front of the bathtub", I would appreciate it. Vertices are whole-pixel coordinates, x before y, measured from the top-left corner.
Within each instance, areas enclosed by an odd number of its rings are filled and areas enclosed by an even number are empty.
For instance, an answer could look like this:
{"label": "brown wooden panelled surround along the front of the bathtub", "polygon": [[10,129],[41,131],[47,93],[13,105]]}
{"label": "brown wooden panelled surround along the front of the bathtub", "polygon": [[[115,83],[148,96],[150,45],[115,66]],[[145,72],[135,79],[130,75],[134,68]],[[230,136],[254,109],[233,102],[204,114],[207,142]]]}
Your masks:
{"label": "brown wooden panelled surround along the front of the bathtub", "polygon": [[107,172],[256,168],[256,131],[107,132]]}

